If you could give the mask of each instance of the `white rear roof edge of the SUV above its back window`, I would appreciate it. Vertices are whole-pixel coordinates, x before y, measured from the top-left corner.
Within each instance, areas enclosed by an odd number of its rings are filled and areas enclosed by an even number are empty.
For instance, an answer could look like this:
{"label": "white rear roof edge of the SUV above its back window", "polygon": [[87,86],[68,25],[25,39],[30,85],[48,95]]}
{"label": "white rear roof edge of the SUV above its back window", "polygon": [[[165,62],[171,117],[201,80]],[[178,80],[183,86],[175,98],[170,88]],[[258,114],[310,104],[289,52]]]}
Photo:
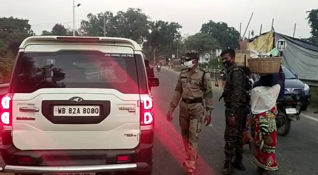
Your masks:
{"label": "white rear roof edge of the SUV above its back window", "polygon": [[142,51],[140,45],[127,38],[116,37],[86,37],[86,36],[30,36],[22,41],[19,49],[24,49],[26,45],[31,42],[45,42],[45,41],[66,41],[66,42],[99,42],[99,43],[125,43],[131,45],[134,50]]}

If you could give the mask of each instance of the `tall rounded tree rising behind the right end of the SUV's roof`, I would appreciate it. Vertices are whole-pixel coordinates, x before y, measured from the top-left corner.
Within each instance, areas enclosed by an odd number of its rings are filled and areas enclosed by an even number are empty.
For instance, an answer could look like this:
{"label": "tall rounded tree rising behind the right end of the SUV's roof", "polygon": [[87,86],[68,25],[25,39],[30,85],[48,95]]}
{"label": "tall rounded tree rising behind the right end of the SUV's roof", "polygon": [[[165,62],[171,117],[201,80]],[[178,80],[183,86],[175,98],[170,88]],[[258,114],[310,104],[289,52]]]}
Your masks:
{"label": "tall rounded tree rising behind the right end of the SUV's roof", "polygon": [[149,17],[140,8],[118,11],[115,16],[116,35],[143,44],[149,34]]}

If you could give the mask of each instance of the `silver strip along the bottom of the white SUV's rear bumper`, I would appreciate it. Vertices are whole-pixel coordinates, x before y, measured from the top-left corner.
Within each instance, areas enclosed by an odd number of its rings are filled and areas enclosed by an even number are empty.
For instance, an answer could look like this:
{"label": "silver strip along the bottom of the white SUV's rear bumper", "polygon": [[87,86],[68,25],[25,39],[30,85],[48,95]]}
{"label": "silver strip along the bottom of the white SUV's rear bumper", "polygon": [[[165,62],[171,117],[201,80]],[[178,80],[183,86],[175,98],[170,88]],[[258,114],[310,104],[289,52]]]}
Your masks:
{"label": "silver strip along the bottom of the white SUV's rear bumper", "polygon": [[147,170],[147,163],[97,165],[97,166],[70,166],[70,167],[31,167],[6,165],[1,172],[20,174],[58,174],[58,173],[103,173]]}

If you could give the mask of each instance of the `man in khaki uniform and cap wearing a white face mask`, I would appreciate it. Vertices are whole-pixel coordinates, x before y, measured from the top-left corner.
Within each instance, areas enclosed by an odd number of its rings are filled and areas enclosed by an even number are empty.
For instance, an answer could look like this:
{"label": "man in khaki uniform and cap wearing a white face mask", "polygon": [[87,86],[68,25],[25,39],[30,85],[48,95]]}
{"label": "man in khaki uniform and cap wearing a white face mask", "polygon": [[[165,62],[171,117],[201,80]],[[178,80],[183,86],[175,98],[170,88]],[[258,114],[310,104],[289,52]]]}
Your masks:
{"label": "man in khaki uniform and cap wearing a white face mask", "polygon": [[207,115],[204,121],[206,126],[211,123],[212,103],[212,84],[211,78],[203,68],[198,67],[199,54],[195,51],[185,53],[186,69],[180,73],[177,86],[170,103],[170,110],[167,120],[172,121],[172,112],[178,105],[180,98],[180,127],[182,140],[186,150],[186,161],[184,166],[187,168],[187,175],[193,175],[195,162],[197,159],[199,133],[202,129],[205,98]]}

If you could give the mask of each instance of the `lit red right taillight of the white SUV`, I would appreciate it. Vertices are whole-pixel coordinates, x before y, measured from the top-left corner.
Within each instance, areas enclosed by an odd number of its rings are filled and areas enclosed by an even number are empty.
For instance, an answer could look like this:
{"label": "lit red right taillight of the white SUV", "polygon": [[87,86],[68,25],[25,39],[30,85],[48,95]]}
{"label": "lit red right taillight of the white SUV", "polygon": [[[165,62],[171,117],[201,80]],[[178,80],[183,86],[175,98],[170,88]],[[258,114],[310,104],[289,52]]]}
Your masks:
{"label": "lit red right taillight of the white SUV", "polygon": [[149,95],[141,95],[140,101],[140,124],[147,126],[153,124],[154,118],[154,101]]}

